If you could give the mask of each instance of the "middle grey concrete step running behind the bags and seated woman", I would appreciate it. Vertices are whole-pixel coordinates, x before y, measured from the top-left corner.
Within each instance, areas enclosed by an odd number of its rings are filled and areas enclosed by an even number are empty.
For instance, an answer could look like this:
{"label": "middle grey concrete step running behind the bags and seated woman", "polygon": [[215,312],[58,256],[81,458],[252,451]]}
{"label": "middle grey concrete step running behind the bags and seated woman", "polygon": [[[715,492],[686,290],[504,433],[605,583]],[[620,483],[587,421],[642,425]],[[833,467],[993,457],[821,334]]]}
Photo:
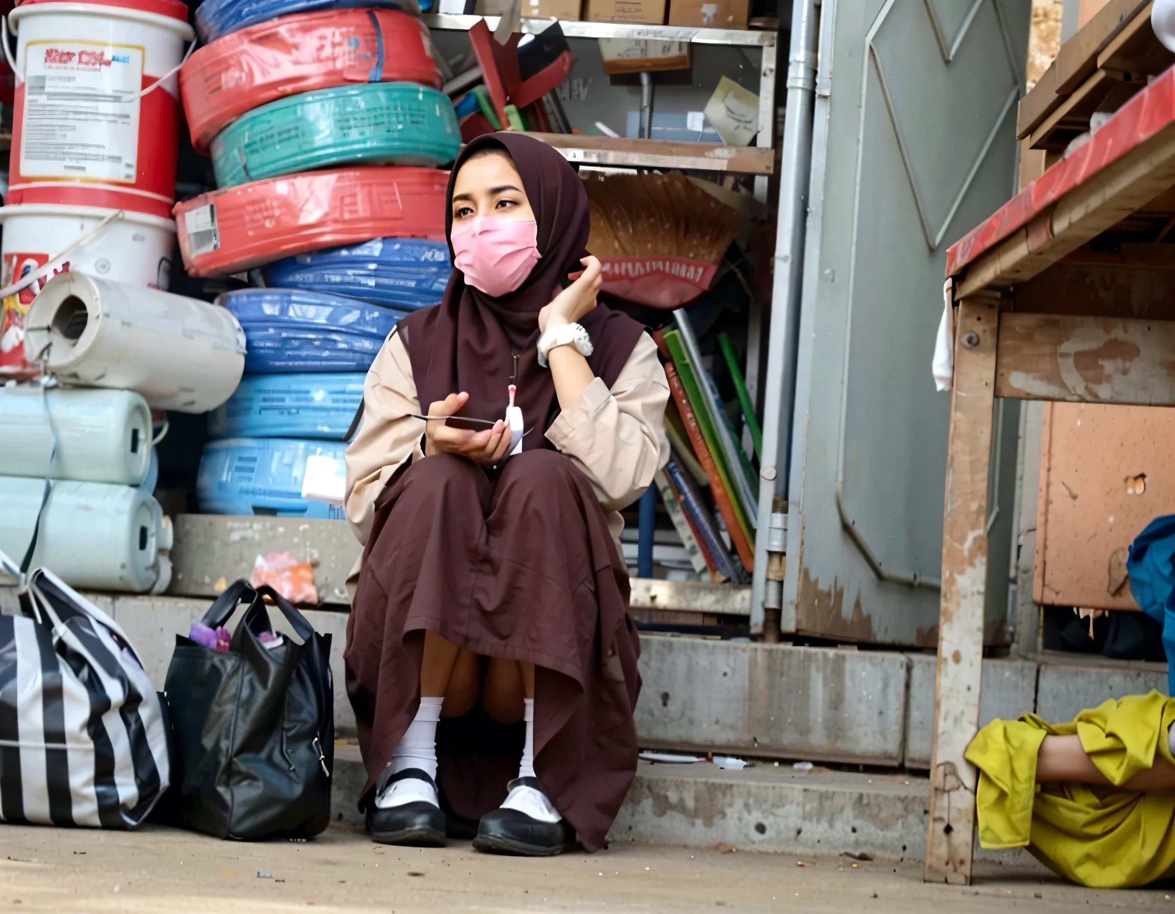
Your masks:
{"label": "middle grey concrete step running behind the bags and seated woman", "polygon": [[[208,609],[207,598],[87,593],[127,632],[147,674],[162,688],[175,647]],[[19,612],[0,587],[0,612]],[[335,725],[355,734],[343,687],[347,613],[307,610],[334,640]],[[273,614],[276,629],[284,619]],[[927,769],[934,713],[933,654],[737,644],[704,638],[642,637],[643,688],[636,724],[645,748],[730,752]],[[1107,698],[1166,694],[1167,665],[1047,656],[1041,663],[985,660],[981,721],[1034,711],[1070,720]]]}

